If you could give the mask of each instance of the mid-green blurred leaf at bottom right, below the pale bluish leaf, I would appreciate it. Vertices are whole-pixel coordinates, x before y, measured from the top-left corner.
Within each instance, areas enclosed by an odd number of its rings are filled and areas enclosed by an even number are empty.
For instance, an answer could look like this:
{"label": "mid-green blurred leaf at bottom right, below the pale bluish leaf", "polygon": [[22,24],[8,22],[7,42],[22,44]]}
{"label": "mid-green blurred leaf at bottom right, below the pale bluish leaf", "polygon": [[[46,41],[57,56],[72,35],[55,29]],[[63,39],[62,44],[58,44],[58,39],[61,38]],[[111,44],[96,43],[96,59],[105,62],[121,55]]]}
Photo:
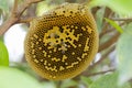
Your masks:
{"label": "mid-green blurred leaf at bottom right, below the pale bluish leaf", "polygon": [[118,73],[113,73],[100,77],[89,88],[131,88],[131,86],[130,84],[118,86]]}

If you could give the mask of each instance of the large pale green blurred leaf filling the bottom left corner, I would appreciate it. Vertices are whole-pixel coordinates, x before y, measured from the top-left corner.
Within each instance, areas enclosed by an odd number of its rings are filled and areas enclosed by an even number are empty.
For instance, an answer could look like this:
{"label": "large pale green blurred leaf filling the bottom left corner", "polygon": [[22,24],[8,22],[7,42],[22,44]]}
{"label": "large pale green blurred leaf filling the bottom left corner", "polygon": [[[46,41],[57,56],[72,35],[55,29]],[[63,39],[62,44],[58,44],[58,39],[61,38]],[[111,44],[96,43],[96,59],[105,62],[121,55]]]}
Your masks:
{"label": "large pale green blurred leaf filling the bottom left corner", "polygon": [[0,66],[0,88],[43,88],[30,75],[16,69]]}

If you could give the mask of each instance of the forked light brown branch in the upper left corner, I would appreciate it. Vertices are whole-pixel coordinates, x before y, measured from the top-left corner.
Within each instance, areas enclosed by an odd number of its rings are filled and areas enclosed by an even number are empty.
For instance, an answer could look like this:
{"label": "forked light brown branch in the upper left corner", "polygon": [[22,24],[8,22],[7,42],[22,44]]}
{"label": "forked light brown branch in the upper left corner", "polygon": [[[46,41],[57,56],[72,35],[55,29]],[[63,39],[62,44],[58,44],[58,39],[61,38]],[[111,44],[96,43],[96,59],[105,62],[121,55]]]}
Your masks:
{"label": "forked light brown branch in the upper left corner", "polygon": [[[19,23],[23,12],[32,4],[41,2],[43,0],[25,0],[23,4],[18,7],[18,0],[14,1],[14,6],[11,12],[11,16],[0,26],[0,36],[3,35],[13,24]],[[24,21],[23,21],[24,22]]]}

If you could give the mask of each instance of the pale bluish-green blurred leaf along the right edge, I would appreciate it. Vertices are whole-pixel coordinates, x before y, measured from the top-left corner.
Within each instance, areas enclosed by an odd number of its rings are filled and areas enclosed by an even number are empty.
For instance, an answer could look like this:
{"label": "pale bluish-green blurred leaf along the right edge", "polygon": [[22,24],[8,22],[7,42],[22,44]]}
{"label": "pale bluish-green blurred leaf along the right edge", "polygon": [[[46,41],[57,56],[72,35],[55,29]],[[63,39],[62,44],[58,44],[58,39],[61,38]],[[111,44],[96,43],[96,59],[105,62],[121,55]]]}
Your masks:
{"label": "pale bluish-green blurred leaf along the right edge", "polygon": [[117,57],[119,58],[119,84],[132,78],[132,24],[125,28],[117,45]]}

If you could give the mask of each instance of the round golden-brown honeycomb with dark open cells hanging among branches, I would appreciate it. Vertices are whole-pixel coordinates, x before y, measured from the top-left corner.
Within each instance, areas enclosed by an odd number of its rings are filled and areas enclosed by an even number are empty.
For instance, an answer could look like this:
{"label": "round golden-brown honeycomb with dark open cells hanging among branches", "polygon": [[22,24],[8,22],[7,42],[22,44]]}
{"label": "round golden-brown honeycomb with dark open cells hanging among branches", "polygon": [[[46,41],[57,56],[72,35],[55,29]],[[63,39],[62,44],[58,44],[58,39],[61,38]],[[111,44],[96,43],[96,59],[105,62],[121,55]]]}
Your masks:
{"label": "round golden-brown honeycomb with dark open cells hanging among branches", "polygon": [[98,51],[92,14],[79,3],[65,3],[34,19],[24,42],[30,66],[43,78],[63,80],[84,72]]}

